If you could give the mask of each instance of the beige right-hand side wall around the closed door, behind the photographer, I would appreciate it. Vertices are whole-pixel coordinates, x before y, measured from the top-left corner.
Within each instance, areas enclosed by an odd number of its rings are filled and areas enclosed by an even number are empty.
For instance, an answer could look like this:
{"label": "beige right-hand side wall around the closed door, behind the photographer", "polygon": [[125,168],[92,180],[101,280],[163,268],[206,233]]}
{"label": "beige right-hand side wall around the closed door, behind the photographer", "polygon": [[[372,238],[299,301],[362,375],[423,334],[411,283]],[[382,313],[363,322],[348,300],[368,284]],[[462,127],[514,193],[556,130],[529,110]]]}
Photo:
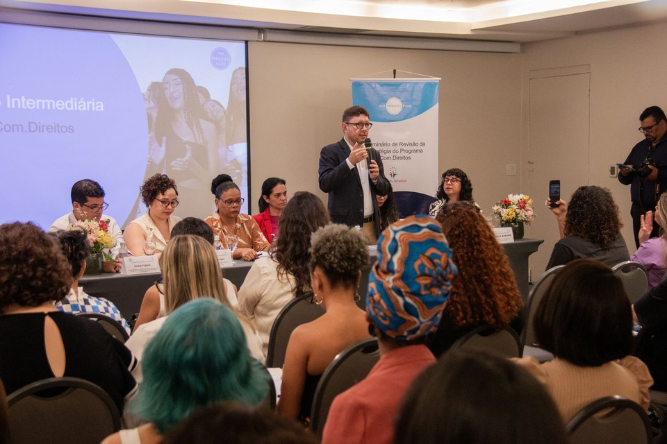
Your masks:
{"label": "beige right-hand side wall around the closed door, behind the photographer", "polygon": [[[634,253],[632,219],[629,216],[629,187],[609,178],[610,164],[623,162],[634,144],[643,136],[639,114],[650,105],[667,109],[667,25],[626,28],[618,31],[580,35],[522,47],[522,94],[528,94],[527,76],[533,69],[590,65],[590,159],[588,178],[578,185],[607,187],[618,203],[625,223],[623,236],[630,254]],[[527,160],[527,109],[524,100],[522,119],[522,155]],[[563,147],[561,167],[568,168],[568,149]],[[527,164],[523,164],[526,171]],[[525,186],[525,182],[522,186]],[[539,214],[545,218],[536,223],[556,224],[536,198]],[[563,196],[568,200],[569,196]],[[547,219],[545,221],[545,219]],[[552,246],[543,246],[549,250]],[[536,275],[533,274],[533,278]]]}

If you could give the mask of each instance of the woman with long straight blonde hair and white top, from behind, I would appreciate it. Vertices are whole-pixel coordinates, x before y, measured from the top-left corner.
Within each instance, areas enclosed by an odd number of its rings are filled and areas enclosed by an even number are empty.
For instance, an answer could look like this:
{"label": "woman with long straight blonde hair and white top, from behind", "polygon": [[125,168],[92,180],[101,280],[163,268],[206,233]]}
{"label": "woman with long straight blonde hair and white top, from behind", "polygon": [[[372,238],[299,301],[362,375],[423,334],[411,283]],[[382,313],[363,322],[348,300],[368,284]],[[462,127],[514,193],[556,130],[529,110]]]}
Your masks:
{"label": "woman with long straight blonde hair and white top, from behind", "polygon": [[[126,342],[127,348],[139,360],[133,372],[137,382],[142,379],[141,359],[146,345],[163,326],[168,314],[186,302],[199,298],[213,298],[231,308],[227,293],[234,291],[233,284],[227,279],[223,280],[213,246],[201,237],[191,234],[174,236],[160,257],[160,268],[164,279],[167,316],[140,325]],[[264,361],[257,332],[245,319],[239,320],[247,337],[250,354]]]}

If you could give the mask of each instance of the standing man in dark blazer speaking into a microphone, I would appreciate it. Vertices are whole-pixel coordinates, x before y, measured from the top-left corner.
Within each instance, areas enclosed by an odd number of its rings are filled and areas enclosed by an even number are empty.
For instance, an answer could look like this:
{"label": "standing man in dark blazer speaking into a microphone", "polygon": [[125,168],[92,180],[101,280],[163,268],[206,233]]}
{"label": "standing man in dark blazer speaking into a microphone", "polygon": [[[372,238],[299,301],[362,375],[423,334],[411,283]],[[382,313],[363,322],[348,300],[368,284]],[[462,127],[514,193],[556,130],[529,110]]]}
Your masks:
{"label": "standing man in dark blazer speaking into a microphone", "polygon": [[386,196],[390,183],[379,153],[363,143],[372,126],[368,111],[347,108],[340,126],[343,139],[320,151],[320,189],[329,193],[331,222],[359,226],[368,244],[377,244],[380,210],[375,196]]}

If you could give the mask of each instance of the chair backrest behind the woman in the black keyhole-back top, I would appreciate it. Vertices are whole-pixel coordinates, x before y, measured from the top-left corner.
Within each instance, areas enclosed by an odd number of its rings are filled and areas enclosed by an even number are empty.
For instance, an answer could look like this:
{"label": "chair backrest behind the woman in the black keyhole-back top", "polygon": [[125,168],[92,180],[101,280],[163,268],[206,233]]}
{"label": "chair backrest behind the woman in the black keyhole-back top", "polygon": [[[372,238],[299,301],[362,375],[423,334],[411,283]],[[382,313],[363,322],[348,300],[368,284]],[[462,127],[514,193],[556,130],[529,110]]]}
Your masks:
{"label": "chair backrest behind the woman in the black keyhole-back top", "polygon": [[99,443],[120,429],[120,413],[99,386],[76,377],[51,377],[11,393],[13,444]]}

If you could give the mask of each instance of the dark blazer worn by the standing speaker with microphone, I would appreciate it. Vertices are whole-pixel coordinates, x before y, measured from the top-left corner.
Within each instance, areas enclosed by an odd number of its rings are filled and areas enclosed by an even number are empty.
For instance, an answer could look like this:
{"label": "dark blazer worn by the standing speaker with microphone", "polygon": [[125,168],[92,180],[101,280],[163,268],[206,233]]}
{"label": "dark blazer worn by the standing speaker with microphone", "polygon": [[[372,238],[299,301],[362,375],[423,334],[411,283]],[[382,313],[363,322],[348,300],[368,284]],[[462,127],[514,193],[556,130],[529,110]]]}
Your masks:
{"label": "dark blazer worn by the standing speaker with microphone", "polygon": [[[377,162],[380,169],[377,184],[368,179],[370,194],[375,216],[375,230],[380,235],[380,210],[377,206],[376,194],[386,196],[391,187],[389,180],[384,176],[382,159],[375,148],[370,148],[368,160]],[[345,223],[350,227],[363,225],[363,190],[361,178],[356,166],[349,169],[345,159],[349,156],[349,146],[345,139],[336,144],[324,146],[320,151],[320,189],[329,193],[329,216],[331,222]]]}

